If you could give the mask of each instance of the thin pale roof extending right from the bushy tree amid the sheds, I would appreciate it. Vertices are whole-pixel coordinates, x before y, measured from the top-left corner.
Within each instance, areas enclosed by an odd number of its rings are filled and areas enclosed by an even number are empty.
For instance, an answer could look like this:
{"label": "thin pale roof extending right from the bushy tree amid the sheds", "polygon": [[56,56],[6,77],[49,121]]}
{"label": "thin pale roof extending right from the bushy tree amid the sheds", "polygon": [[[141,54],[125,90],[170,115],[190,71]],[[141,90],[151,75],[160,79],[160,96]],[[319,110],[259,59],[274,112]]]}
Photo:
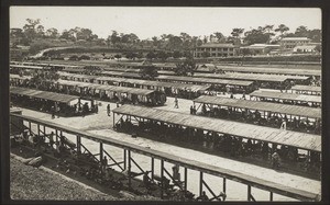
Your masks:
{"label": "thin pale roof extending right from the bushy tree amid the sheds", "polygon": [[272,82],[284,82],[288,78],[286,76],[278,75],[258,75],[258,73],[195,73],[194,77],[204,78],[219,78],[219,79],[237,79],[237,80],[253,80],[253,81],[272,81]]}

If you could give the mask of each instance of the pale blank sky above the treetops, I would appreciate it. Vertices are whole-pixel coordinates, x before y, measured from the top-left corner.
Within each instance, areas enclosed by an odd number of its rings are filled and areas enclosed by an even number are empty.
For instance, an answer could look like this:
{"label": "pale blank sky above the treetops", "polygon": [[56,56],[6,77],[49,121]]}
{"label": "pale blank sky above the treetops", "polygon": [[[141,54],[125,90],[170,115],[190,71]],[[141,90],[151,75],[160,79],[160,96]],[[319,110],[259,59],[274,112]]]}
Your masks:
{"label": "pale blank sky above the treetops", "polygon": [[175,8],[175,7],[11,7],[10,27],[23,27],[26,19],[41,19],[45,30],[58,32],[76,26],[90,29],[107,38],[112,31],[134,33],[141,39],[162,34],[191,36],[221,32],[230,35],[232,29],[245,31],[266,24],[287,25],[289,32],[305,25],[321,29],[321,10],[317,8]]}

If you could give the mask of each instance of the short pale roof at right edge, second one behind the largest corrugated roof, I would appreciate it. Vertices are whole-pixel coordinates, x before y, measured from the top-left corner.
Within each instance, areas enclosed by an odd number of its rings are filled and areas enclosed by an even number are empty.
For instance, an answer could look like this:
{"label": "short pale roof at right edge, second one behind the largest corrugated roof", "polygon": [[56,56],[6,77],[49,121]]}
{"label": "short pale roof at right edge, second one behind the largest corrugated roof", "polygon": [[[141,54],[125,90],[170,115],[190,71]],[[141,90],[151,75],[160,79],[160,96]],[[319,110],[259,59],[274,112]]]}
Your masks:
{"label": "short pale roof at right edge, second one behind the largest corrugated roof", "polygon": [[305,95],[305,94],[295,94],[286,92],[272,92],[272,91],[262,91],[256,90],[250,94],[251,96],[262,96],[262,98],[272,98],[272,99],[282,99],[282,100],[292,100],[292,101],[304,101],[304,102],[316,102],[321,103],[321,96],[317,95]]}

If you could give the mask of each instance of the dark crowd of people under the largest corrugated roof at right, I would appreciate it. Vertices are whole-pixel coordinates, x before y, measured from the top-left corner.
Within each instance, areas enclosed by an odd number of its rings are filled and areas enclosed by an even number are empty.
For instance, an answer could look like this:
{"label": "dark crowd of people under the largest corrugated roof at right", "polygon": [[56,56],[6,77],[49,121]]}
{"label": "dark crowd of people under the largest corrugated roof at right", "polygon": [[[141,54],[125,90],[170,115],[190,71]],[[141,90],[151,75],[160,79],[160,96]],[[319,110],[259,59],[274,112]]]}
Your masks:
{"label": "dark crowd of people under the largest corrugated roof at right", "polygon": [[208,149],[233,158],[257,158],[266,163],[271,163],[271,156],[277,152],[280,159],[287,164],[304,163],[315,169],[319,169],[320,166],[320,153],[315,151],[310,151],[310,157],[308,157],[308,155],[298,155],[298,149],[290,146],[272,145],[265,141],[243,139],[227,134],[205,132],[202,129],[170,125],[151,119],[139,122],[139,125],[134,125],[128,118],[125,121],[121,118],[116,129],[130,134],[134,133],[138,136],[152,136],[153,139],[161,141],[197,145],[200,149]]}

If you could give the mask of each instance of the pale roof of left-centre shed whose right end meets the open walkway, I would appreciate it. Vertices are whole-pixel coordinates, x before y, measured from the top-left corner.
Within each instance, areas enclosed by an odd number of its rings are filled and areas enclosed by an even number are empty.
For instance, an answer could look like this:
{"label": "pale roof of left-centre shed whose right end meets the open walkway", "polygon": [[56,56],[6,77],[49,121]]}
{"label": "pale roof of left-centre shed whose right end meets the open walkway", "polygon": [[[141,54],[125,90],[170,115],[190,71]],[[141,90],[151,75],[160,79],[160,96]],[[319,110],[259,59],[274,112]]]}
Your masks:
{"label": "pale roof of left-centre shed whose right end meets the open walkway", "polygon": [[105,91],[113,91],[120,93],[130,93],[130,94],[139,94],[139,95],[148,95],[154,90],[146,90],[146,89],[136,89],[136,88],[128,88],[128,87],[114,87],[114,86],[107,86],[107,84],[97,84],[97,83],[88,83],[88,82],[77,82],[77,81],[69,81],[69,80],[58,80],[59,84],[66,86],[77,86],[79,88],[91,88],[97,90],[105,90]]}

